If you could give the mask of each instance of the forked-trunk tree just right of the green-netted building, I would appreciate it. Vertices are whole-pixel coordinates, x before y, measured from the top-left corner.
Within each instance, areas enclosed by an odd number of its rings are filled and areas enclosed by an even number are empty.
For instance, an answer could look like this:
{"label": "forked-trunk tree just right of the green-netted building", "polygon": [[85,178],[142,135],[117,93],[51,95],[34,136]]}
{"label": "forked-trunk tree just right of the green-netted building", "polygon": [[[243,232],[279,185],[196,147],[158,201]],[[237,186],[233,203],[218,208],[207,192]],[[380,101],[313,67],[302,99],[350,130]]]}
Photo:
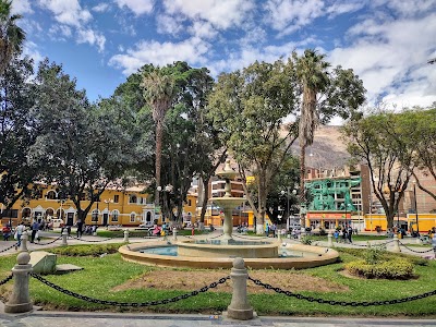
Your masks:
{"label": "forked-trunk tree just right of the green-netted building", "polygon": [[372,190],[385,209],[388,228],[393,226],[415,168],[415,148],[409,147],[402,120],[401,114],[382,111],[352,120],[342,129],[349,153],[368,166]]}

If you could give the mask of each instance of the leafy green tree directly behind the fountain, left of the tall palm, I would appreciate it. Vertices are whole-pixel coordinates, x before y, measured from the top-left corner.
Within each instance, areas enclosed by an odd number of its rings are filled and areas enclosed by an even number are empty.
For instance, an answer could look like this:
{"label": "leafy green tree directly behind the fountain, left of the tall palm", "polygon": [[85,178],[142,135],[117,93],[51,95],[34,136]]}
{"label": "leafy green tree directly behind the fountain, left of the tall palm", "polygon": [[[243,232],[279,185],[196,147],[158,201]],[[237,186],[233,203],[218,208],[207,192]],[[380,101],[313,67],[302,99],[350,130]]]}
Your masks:
{"label": "leafy green tree directly behind the fountain, left of the tall palm", "polygon": [[283,119],[295,110],[295,78],[291,65],[278,60],[255,62],[242,71],[221,74],[209,99],[209,114],[220,136],[237,159],[246,182],[255,175],[257,201],[244,183],[255,214],[257,233],[263,233],[266,201],[296,130],[282,130]]}

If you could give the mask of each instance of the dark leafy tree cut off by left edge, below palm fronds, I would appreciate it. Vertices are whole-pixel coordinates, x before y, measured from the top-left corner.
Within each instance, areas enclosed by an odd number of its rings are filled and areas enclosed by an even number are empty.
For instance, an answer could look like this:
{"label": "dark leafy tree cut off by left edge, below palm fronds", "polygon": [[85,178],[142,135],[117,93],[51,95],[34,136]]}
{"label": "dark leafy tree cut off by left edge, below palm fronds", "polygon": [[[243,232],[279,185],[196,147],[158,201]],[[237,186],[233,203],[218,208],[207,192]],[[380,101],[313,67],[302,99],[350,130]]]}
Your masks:
{"label": "dark leafy tree cut off by left edge, below palm fronds", "polygon": [[38,167],[27,160],[38,130],[31,108],[34,88],[28,81],[33,62],[16,56],[0,74],[0,202],[7,209],[20,198],[31,196]]}

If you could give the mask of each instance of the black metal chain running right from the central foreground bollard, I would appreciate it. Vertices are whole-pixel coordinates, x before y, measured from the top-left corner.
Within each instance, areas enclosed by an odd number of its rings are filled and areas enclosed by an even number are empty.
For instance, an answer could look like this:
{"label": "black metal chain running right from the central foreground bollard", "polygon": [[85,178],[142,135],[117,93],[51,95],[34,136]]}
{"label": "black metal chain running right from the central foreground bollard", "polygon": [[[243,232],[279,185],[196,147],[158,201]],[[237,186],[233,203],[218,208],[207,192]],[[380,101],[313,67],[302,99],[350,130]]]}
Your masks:
{"label": "black metal chain running right from the central foreground bollard", "polygon": [[296,298],[299,300],[306,300],[308,302],[317,302],[317,303],[325,303],[325,304],[330,304],[330,305],[342,305],[342,306],[372,306],[372,305],[397,304],[397,303],[404,303],[404,302],[410,302],[410,301],[414,301],[414,300],[419,300],[419,299],[425,299],[425,298],[436,294],[436,290],[434,290],[434,291],[426,292],[423,294],[402,298],[402,299],[396,299],[396,300],[374,301],[374,302],[346,302],[346,301],[317,299],[317,298],[312,298],[312,296],[305,296],[303,294],[295,294],[295,293],[292,293],[291,291],[284,291],[280,288],[275,288],[275,287],[270,286],[269,283],[263,283],[261,280],[253,279],[250,276],[249,276],[249,280],[253,281],[255,284],[261,286],[267,290],[272,290],[276,293],[284,294],[290,298]]}

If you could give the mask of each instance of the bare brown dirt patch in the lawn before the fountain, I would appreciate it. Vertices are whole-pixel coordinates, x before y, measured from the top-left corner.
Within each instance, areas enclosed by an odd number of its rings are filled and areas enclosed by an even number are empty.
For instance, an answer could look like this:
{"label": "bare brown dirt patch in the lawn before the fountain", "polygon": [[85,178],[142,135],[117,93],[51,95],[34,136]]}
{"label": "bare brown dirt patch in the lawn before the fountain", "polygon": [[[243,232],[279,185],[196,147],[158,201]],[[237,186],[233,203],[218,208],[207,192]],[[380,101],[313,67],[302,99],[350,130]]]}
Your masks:
{"label": "bare brown dirt patch in the lawn before the fountain", "polygon": [[[298,274],[294,271],[250,271],[250,277],[258,279],[264,283],[269,283],[272,287],[279,287],[287,291],[347,291],[348,288],[322,278]],[[180,271],[180,270],[155,270],[144,274],[137,279],[129,280],[128,282],[113,288],[113,291],[122,291],[126,289],[154,288],[158,290],[198,290],[204,286],[208,286],[220,278],[226,277],[225,271],[216,270],[196,270],[196,271]],[[274,292],[265,288],[256,286],[254,282],[247,282],[250,293]],[[231,280],[219,284],[215,290],[218,292],[231,292]]]}

